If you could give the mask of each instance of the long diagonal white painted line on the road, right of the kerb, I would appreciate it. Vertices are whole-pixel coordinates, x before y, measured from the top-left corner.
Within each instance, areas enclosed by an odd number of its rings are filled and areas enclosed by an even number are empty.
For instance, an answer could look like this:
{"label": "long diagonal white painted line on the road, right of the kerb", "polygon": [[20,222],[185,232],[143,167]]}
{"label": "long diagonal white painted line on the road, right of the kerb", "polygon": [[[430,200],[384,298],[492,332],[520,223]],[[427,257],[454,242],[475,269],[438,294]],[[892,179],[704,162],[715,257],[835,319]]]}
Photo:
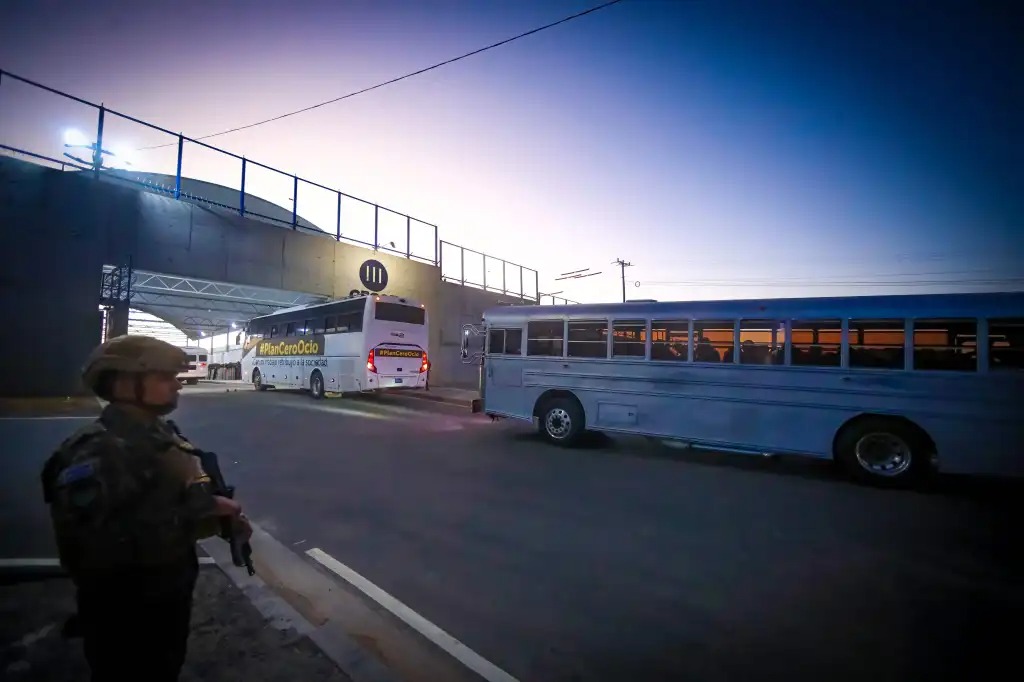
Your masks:
{"label": "long diagonal white painted line on the road, right of the kerb", "polygon": [[468,646],[447,634],[430,621],[401,603],[384,590],[380,589],[362,576],[341,563],[333,556],[323,551],[318,547],[306,550],[306,556],[313,559],[325,568],[335,573],[352,587],[359,590],[378,604],[391,611],[401,619],[406,625],[410,626],[418,633],[429,639],[438,647],[443,649],[449,655],[459,660],[462,665],[487,680],[487,682],[518,682],[514,677],[486,660]]}

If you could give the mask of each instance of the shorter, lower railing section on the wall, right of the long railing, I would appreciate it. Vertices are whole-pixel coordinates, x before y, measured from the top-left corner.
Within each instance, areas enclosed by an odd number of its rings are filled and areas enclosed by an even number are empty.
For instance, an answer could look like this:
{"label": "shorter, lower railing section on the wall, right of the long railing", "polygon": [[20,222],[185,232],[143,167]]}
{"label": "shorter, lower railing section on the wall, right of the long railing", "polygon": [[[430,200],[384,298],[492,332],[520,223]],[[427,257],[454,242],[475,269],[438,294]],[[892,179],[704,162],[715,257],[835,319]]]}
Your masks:
{"label": "shorter, lower railing section on the wall, right of the long railing", "polygon": [[440,244],[441,280],[539,301],[537,270],[458,244]]}

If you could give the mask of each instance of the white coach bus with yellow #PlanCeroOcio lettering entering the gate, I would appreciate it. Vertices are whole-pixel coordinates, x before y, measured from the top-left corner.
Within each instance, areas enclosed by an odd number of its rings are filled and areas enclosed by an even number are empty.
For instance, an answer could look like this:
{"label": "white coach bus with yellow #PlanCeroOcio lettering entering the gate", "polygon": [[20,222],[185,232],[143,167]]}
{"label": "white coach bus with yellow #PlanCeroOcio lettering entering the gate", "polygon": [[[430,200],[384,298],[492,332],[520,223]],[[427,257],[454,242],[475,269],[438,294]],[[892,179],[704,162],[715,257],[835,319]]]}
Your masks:
{"label": "white coach bus with yellow #PlanCeroOcio lettering entering the gate", "polygon": [[314,398],[381,388],[423,388],[426,308],[371,295],[303,305],[246,326],[242,376],[257,390],[308,390]]}

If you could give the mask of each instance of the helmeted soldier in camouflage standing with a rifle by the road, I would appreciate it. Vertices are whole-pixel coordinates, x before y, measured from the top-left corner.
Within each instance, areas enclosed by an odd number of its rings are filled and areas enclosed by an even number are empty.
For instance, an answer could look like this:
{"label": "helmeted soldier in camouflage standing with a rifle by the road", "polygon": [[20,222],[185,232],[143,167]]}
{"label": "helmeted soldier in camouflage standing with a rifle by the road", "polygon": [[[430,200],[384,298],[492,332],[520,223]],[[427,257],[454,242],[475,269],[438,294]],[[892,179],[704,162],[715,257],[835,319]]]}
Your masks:
{"label": "helmeted soldier in camouflage standing with a rifle by the road", "polygon": [[196,541],[219,520],[252,529],[210,479],[173,422],[184,351],[145,336],[97,347],[83,381],[109,404],[65,440],[42,472],[60,563],[77,588],[93,682],[178,679],[184,663]]}

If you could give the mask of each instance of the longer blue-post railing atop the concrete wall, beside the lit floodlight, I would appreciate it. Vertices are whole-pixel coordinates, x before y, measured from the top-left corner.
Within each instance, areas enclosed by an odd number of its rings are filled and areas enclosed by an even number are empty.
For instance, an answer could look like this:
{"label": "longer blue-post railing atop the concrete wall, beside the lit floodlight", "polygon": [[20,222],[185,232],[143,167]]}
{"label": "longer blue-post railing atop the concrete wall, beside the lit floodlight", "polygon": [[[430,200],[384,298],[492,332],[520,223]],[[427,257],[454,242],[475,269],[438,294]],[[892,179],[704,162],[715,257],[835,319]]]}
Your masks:
{"label": "longer blue-post railing atop the concrete wall, beside the lit floodlight", "polygon": [[[28,89],[23,89],[23,86],[28,86]],[[18,90],[24,95],[22,99],[17,98]],[[48,95],[61,98],[59,105],[41,101],[42,96]],[[292,229],[323,232],[339,242],[439,265],[437,225],[401,211],[301,178],[2,70],[0,101],[0,150],[5,152],[27,156],[35,162],[48,162],[61,170],[91,171],[96,177],[142,185],[177,200],[201,202]],[[33,103],[37,105],[33,106]],[[90,123],[89,117],[75,111],[76,108],[86,108],[85,112],[94,110],[94,122]],[[58,114],[62,123],[78,121],[80,128],[89,129],[92,134],[78,131],[78,139],[66,139],[62,144],[58,132],[52,127],[36,130],[33,135],[28,130],[33,123],[52,125],[54,109],[63,110]],[[18,134],[20,144],[7,143],[8,140],[4,139],[8,134],[5,131],[9,130],[13,121],[22,124],[18,126],[22,128]],[[144,156],[142,164],[147,171],[135,170],[134,162],[123,151],[117,150],[119,142],[128,140],[142,141],[141,144],[136,142],[131,145],[130,155]],[[66,150],[85,150],[91,158],[83,159]],[[232,185],[224,185],[225,181],[230,181],[228,178],[232,173],[237,181]],[[301,207],[300,201],[303,202]],[[360,213],[361,216],[358,215]]]}

